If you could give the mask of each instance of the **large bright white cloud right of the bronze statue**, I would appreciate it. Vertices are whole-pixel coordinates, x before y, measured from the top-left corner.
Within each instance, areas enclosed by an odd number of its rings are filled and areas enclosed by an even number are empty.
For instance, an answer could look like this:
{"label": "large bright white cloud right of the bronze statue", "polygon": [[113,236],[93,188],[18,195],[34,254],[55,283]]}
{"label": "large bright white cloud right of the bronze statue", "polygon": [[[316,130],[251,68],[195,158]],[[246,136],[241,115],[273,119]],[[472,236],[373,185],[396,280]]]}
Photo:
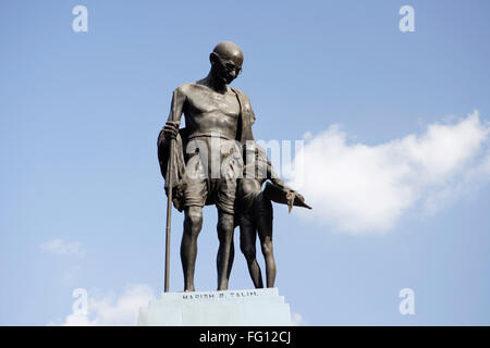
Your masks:
{"label": "large bright white cloud right of the bronze statue", "polygon": [[339,126],[311,137],[290,185],[321,222],[351,233],[390,229],[417,202],[436,212],[490,176],[490,127],[475,111],[377,146],[347,144]]}

